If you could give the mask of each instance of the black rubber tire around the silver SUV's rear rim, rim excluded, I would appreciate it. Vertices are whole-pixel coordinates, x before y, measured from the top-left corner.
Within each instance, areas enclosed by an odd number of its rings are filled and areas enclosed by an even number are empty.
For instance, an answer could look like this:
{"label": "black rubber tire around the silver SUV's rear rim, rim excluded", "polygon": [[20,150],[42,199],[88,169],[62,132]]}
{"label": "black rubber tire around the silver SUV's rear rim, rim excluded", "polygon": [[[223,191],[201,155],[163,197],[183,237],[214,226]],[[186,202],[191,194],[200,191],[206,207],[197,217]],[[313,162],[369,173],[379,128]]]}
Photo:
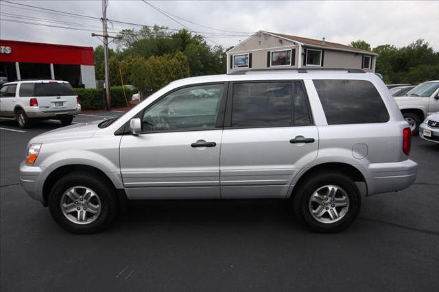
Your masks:
{"label": "black rubber tire around the silver SUV's rear rim, rim excluded", "polygon": [[[313,231],[324,233],[337,232],[351,225],[357,218],[361,208],[361,195],[355,182],[339,172],[318,172],[309,175],[308,178],[307,181],[297,186],[292,197],[294,214],[298,221],[304,223]],[[344,214],[339,221],[333,223],[322,223],[318,221],[311,215],[311,210],[309,210],[311,195],[322,186],[327,185],[335,185],[342,188],[349,199],[346,214]]]}

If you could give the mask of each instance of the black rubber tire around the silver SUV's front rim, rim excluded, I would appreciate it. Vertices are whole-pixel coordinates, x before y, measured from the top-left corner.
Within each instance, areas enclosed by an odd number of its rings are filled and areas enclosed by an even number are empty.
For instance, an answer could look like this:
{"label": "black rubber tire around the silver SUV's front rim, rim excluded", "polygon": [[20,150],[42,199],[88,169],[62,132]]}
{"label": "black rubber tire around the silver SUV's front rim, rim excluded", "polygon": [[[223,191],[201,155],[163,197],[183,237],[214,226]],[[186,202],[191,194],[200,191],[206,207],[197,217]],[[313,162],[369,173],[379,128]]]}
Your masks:
{"label": "black rubber tire around the silver SUV's front rim, rim excluded", "polygon": [[[74,223],[61,210],[61,198],[64,192],[73,186],[84,186],[93,190],[100,200],[100,213],[94,221],[85,224]],[[75,234],[91,234],[106,228],[117,214],[117,195],[114,186],[106,180],[86,171],[75,172],[60,178],[49,193],[49,210],[59,226]]]}

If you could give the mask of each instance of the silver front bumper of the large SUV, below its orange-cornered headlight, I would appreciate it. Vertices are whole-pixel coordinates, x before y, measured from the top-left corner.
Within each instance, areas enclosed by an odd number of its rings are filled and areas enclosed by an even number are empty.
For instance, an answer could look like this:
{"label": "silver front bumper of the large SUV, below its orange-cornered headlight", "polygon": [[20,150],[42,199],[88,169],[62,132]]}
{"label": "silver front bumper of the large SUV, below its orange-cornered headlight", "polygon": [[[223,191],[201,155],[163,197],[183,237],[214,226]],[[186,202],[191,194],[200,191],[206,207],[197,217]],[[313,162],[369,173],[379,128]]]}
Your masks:
{"label": "silver front bumper of the large SUV, below its orange-cornered headlight", "polygon": [[26,165],[26,162],[21,162],[20,165],[20,182],[26,193],[40,202],[44,202],[43,186],[40,176],[44,171],[44,167],[31,167]]}

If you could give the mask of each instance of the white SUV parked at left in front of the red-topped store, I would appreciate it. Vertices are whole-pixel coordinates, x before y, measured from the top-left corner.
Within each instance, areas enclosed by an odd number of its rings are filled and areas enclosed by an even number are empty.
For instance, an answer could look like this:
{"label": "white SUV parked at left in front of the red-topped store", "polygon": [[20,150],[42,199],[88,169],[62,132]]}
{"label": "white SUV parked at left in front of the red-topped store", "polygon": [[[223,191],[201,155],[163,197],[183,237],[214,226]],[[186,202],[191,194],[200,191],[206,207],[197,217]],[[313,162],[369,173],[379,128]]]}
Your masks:
{"label": "white SUV parked at left in front of the red-topped store", "polygon": [[70,125],[80,111],[78,96],[66,81],[16,81],[0,88],[0,117],[16,119],[19,127],[29,127],[34,119]]}

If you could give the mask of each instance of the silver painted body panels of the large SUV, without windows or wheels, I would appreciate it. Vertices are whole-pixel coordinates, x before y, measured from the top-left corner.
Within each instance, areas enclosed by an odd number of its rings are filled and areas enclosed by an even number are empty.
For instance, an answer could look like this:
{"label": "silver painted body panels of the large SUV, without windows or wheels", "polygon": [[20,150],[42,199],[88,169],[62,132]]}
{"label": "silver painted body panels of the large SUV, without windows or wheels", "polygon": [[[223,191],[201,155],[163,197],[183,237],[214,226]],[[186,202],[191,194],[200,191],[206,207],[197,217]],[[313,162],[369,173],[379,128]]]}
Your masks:
{"label": "silver painted body panels of the large SUV, without windows or wheels", "polygon": [[[312,82],[316,79],[372,82],[383,97],[390,121],[327,125]],[[242,80],[303,80],[315,125],[139,136],[114,134],[169,90],[189,84]],[[342,162],[353,165],[364,175],[368,195],[372,195],[398,191],[416,179],[416,163],[402,152],[403,127],[407,127],[407,123],[387,87],[375,74],[315,72],[191,77],[171,82],[104,129],[95,124],[75,125],[36,136],[29,143],[43,143],[43,147],[34,166],[22,163],[21,180],[29,195],[43,201],[43,182],[49,173],[64,165],[84,164],[101,169],[117,188],[125,188],[130,199],[287,197],[301,175],[311,167]],[[313,137],[316,142],[288,143],[298,135]],[[215,141],[217,146],[190,147],[190,143],[200,139]],[[270,140],[278,142],[268,143]],[[258,159],[250,161],[246,151]],[[281,156],[285,159],[281,160]]]}

